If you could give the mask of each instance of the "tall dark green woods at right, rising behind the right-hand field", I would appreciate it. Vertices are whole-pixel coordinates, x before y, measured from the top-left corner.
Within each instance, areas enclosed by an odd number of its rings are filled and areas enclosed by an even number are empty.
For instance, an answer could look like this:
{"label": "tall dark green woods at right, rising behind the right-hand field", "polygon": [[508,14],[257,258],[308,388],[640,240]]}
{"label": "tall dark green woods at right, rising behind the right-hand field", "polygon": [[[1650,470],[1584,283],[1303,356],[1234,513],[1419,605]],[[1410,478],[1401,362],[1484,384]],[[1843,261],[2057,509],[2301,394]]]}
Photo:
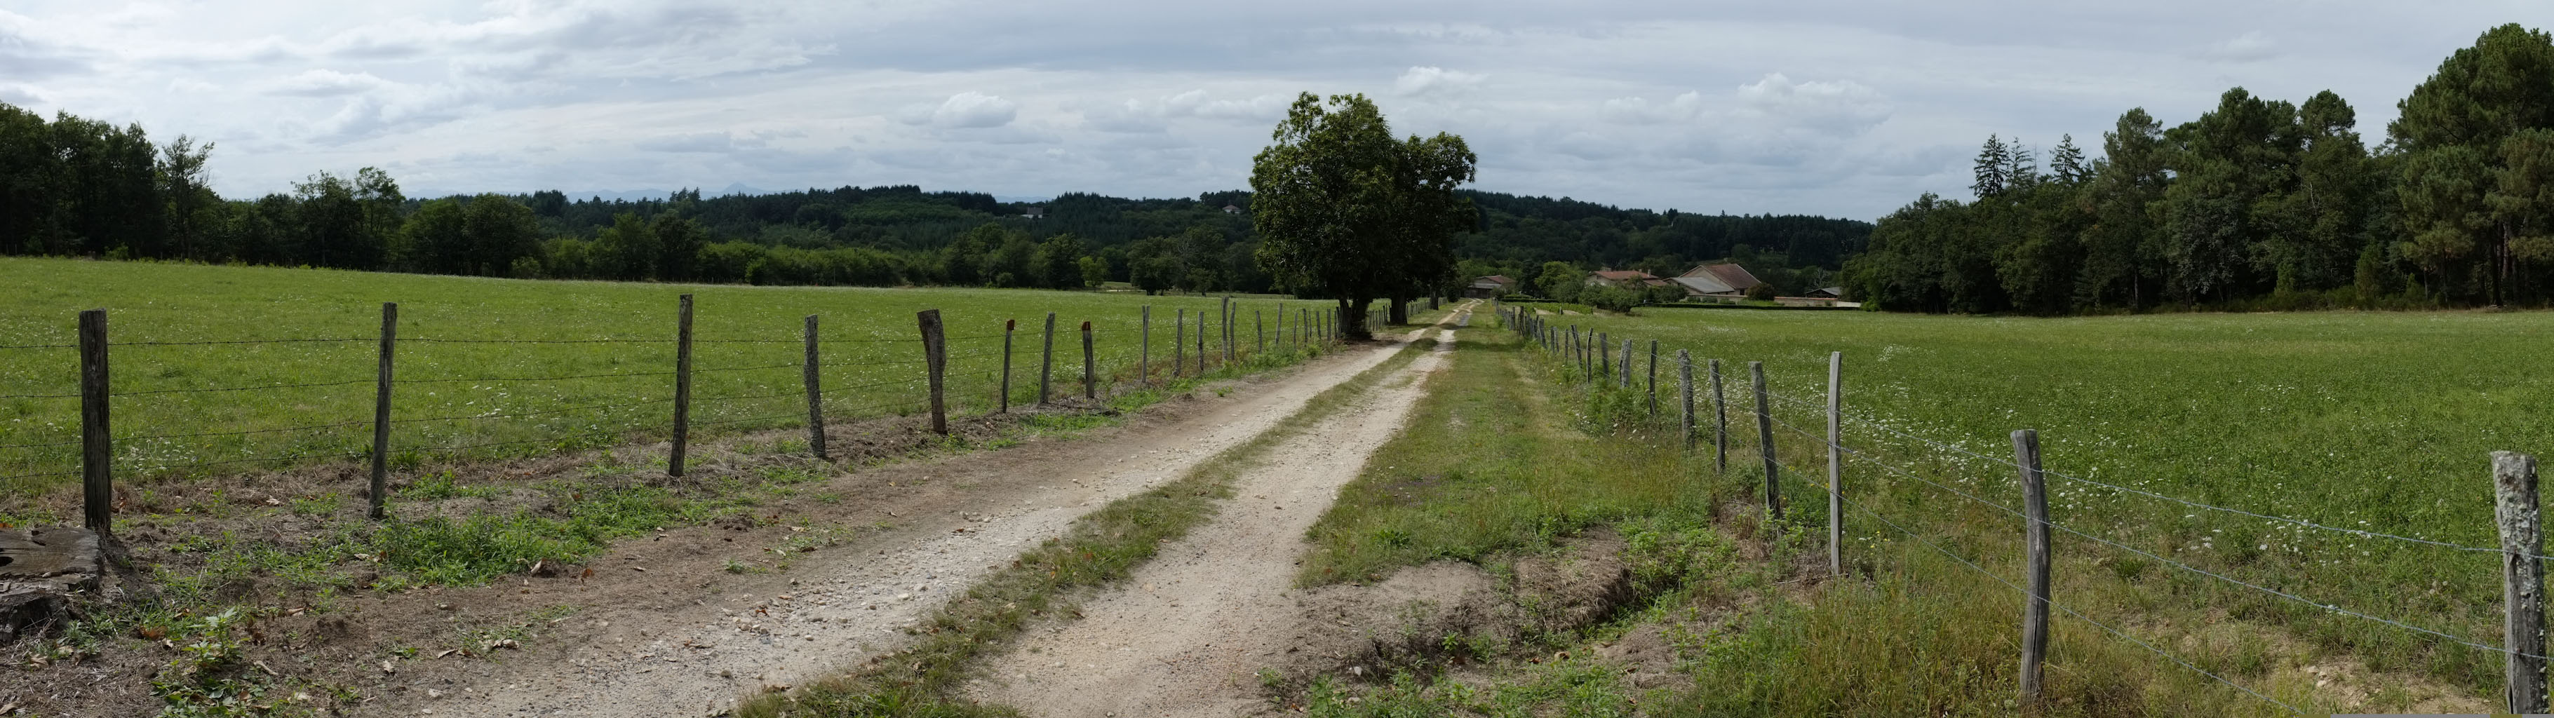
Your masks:
{"label": "tall dark green woods at right, rising behind the right-hand field", "polygon": [[1898,312],[2480,307],[2554,299],[2554,41],[2500,26],[2396,105],[2370,148],[2339,95],[2227,89],[2102,158],[1987,138],[1974,199],[1882,217],[1847,291]]}

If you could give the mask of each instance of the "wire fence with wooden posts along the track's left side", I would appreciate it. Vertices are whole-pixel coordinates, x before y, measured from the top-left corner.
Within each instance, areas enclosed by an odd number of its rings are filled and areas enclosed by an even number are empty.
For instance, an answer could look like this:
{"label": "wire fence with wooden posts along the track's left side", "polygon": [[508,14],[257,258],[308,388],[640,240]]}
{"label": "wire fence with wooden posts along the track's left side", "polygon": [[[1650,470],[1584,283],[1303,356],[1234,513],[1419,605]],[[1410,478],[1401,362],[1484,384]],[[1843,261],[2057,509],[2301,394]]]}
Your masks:
{"label": "wire fence with wooden posts along the track's left side", "polygon": [[[398,335],[396,304],[386,304],[375,337],[110,340],[105,309],[92,309],[79,314],[79,342],[0,345],[61,358],[59,373],[26,370],[43,363],[31,358],[0,373],[0,391],[15,388],[0,393],[0,409],[15,411],[15,422],[0,422],[0,483],[370,460],[368,493],[378,506],[383,465],[414,470],[411,457],[421,455],[490,460],[667,439],[669,470],[679,473],[679,445],[700,437],[692,429],[799,427],[820,452],[820,422],[922,411],[940,427],[940,416],[1039,404],[1073,411],[1088,404],[1068,399],[1106,401],[1172,381],[1285,365],[1341,340],[1338,317],[1315,307],[1328,302],[1223,299],[1177,312],[1183,325],[1157,322],[1167,317],[1147,307],[1142,317],[1088,322],[1088,360],[1085,322],[1057,314],[1039,317],[1057,322],[1052,345],[1050,335],[1027,327],[1027,317],[968,317],[965,330],[955,330],[937,322],[937,309],[902,337],[873,325],[848,327],[856,337],[825,337],[817,317],[805,332],[697,337],[690,294],[667,322],[674,332],[654,337],[470,337],[450,330],[409,337]],[[1254,312],[1295,319],[1274,327],[1251,322]],[[1177,353],[1175,337],[1185,345]],[[263,345],[309,350],[245,353]],[[153,355],[156,348],[243,353],[171,358]],[[92,526],[112,521],[89,514]]]}

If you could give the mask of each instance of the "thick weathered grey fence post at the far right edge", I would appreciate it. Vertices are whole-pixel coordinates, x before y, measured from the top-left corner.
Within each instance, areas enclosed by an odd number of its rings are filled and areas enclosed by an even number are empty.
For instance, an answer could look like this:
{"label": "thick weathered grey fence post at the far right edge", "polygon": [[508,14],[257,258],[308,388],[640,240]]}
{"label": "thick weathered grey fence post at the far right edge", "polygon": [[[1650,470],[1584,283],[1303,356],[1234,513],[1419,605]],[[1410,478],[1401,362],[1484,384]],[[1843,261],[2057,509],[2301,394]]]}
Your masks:
{"label": "thick weathered grey fence post at the far right edge", "polygon": [[2536,457],[2493,452],[2500,526],[2503,700],[2511,713],[2546,713],[2544,521],[2536,514]]}

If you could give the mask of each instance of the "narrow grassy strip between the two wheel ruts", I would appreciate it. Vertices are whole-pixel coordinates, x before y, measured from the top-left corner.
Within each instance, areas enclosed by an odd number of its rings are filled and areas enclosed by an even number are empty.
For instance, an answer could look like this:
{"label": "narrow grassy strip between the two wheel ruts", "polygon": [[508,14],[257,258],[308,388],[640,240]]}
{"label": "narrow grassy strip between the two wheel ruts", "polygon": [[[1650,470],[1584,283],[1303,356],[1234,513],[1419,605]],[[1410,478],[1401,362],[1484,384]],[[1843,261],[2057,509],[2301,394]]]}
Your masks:
{"label": "narrow grassy strip between the two wheel ruts", "polygon": [[950,600],[922,626],[909,629],[922,639],[914,646],[871,659],[850,675],[805,685],[782,695],[759,695],[736,713],[748,718],[784,715],[1016,715],[1004,705],[971,705],[950,698],[950,687],[965,677],[973,659],[999,652],[1001,644],[1032,621],[1078,616],[1068,603],[1073,593],[1103,588],[1124,580],[1134,567],[1152,560],[1165,542],[1185,537],[1218,514],[1218,501],[1231,496],[1234,478],[1251,468],[1272,447],[1338,414],[1349,399],[1374,388],[1394,370],[1420,358],[1433,340],[1366,368],[1364,373],[1313,396],[1300,411],[1282,419],[1269,432],[1200,462],[1188,475],[1152,491],[1111,501],[1073,524],[1073,534],[1047,539],[1042,547],[1019,554],[965,595]]}

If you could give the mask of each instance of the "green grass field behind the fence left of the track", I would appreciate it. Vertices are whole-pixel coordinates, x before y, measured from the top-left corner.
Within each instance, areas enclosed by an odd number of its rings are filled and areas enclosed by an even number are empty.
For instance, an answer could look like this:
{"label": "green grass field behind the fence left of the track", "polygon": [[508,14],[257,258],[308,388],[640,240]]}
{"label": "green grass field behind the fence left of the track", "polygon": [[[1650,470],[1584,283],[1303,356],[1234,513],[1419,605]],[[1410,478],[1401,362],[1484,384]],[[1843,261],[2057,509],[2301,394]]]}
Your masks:
{"label": "green grass field behind the fence left of the track", "polygon": [[[1167,373],[1183,312],[1193,373],[1198,312],[1218,307],[1205,296],[1096,291],[506,281],[46,258],[0,261],[0,286],[20,286],[0,296],[5,491],[77,480],[79,399],[61,396],[79,391],[79,355],[69,348],[79,309],[107,309],[110,386],[128,393],[110,404],[115,470],[153,478],[365,455],[381,302],[398,302],[391,457],[401,465],[664,437],[677,294],[695,294],[695,434],[805,424],[797,368],[805,314],[822,314],[827,414],[858,419],[925,411],[919,309],[942,312],[950,401],[968,414],[991,411],[999,399],[1006,319],[1019,319],[1011,350],[1019,404],[1037,391],[1045,312],[1057,314],[1055,391],[1080,393],[1080,322],[1098,332],[1103,381],[1131,386],[1142,307],[1154,314],[1157,376]],[[1295,330],[1295,309],[1328,304],[1236,307],[1249,355],[1251,312],[1262,312],[1274,353],[1277,312]],[[1218,342],[1211,337],[1208,348]],[[559,376],[585,378],[534,381]],[[199,391],[235,386],[299,388]]]}

